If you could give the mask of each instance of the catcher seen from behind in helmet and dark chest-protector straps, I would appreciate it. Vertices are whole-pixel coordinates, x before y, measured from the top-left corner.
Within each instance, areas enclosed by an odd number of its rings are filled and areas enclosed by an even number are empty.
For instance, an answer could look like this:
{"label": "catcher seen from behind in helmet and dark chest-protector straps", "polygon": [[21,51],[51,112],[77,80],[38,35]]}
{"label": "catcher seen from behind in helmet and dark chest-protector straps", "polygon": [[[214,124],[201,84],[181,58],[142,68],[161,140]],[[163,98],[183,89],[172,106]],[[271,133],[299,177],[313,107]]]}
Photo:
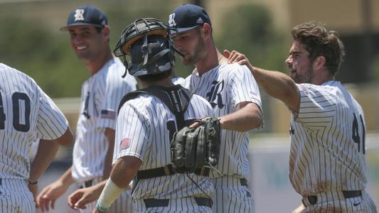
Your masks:
{"label": "catcher seen from behind in helmet and dark chest-protector straps", "polygon": [[[134,26],[140,33],[134,34]],[[210,104],[195,94],[187,97],[187,89],[171,82],[174,53],[169,30],[161,21],[141,18],[124,32],[119,49],[131,57],[130,74],[157,94],[124,98],[127,101],[117,118],[115,164],[96,212],[107,211],[134,177],[136,212],[210,212],[210,179],[196,173],[172,173],[168,167],[174,132],[193,119],[212,114]]]}

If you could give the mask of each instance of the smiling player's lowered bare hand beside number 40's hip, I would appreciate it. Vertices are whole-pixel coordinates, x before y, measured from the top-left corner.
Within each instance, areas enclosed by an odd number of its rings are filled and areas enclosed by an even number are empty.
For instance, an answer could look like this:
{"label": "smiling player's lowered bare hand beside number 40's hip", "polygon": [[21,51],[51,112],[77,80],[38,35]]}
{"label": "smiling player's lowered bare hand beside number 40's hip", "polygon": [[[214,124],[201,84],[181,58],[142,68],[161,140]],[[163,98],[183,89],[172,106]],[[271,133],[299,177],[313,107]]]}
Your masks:
{"label": "smiling player's lowered bare hand beside number 40's hip", "polygon": [[68,190],[68,185],[64,185],[63,182],[57,180],[47,187],[45,187],[37,197],[37,205],[42,212],[54,209],[55,200],[63,195]]}

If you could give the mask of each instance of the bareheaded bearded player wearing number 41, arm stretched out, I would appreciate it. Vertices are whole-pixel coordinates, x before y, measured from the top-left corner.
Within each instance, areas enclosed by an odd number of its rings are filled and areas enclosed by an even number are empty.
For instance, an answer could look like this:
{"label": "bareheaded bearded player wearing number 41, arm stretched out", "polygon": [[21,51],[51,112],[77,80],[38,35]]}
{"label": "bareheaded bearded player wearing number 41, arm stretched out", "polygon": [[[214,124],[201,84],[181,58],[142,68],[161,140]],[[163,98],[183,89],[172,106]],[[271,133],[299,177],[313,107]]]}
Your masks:
{"label": "bareheaded bearded player wearing number 41, arm stretched out", "polygon": [[343,43],[316,22],[295,26],[292,38],[289,77],[252,67],[235,51],[225,55],[248,65],[260,86],[292,111],[289,179],[303,197],[294,212],[376,212],[365,192],[363,110],[335,80]]}

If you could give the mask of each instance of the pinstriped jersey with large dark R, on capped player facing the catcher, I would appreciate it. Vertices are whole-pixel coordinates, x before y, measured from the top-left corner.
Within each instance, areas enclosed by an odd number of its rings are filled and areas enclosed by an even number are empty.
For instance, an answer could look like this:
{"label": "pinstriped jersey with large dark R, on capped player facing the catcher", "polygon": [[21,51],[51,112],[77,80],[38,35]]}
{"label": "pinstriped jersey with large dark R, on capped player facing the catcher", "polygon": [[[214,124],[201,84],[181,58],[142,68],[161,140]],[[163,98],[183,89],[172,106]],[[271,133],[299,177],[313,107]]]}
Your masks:
{"label": "pinstriped jersey with large dark R, on capped player facing the catcher", "polygon": [[[215,116],[224,116],[239,109],[241,102],[252,102],[262,109],[260,91],[246,66],[219,65],[199,76],[194,70],[183,87],[208,100]],[[223,175],[237,175],[250,180],[247,147],[250,133],[223,129],[221,131],[220,160],[217,169]],[[213,171],[211,177],[218,177]]]}

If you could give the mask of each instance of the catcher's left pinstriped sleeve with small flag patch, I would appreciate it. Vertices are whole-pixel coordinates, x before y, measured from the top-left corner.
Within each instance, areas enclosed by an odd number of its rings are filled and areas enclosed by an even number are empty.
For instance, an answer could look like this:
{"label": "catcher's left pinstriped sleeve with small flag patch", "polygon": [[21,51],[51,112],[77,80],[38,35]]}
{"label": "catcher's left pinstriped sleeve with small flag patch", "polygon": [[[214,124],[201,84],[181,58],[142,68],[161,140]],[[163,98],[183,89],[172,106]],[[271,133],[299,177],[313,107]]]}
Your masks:
{"label": "catcher's left pinstriped sleeve with small flag patch", "polygon": [[144,159],[151,143],[149,121],[128,102],[119,111],[113,163],[125,155]]}

